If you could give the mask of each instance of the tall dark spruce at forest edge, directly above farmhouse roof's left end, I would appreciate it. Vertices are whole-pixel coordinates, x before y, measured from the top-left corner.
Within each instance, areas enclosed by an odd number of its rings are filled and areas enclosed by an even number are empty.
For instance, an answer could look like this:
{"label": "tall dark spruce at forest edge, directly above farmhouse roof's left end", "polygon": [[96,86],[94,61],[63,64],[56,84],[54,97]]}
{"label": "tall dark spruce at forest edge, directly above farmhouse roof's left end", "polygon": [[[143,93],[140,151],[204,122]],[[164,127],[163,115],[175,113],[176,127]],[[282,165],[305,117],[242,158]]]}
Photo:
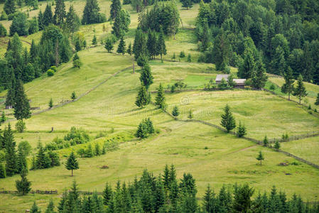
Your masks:
{"label": "tall dark spruce at forest edge, directly above farmhouse roof's left end", "polygon": [[225,71],[229,60],[229,45],[223,30],[220,31],[214,40],[212,58],[214,59],[216,70]]}

